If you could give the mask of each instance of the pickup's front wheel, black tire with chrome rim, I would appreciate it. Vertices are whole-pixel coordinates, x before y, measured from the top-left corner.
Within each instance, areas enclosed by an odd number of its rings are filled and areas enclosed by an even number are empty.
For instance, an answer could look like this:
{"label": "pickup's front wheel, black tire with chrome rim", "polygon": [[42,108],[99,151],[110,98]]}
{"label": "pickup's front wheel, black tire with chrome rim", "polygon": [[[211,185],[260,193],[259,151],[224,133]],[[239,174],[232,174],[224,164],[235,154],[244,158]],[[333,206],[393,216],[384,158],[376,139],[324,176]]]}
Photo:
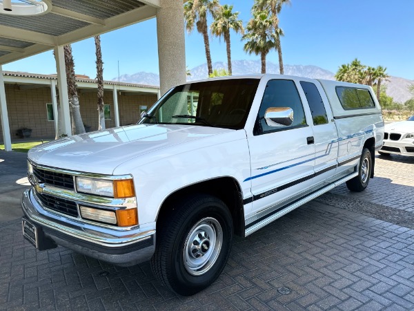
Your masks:
{"label": "pickup's front wheel, black tire with chrome rim", "polygon": [[167,220],[157,226],[152,272],[177,294],[193,295],[221,274],[232,240],[233,220],[224,202],[205,194],[190,196],[173,203]]}

